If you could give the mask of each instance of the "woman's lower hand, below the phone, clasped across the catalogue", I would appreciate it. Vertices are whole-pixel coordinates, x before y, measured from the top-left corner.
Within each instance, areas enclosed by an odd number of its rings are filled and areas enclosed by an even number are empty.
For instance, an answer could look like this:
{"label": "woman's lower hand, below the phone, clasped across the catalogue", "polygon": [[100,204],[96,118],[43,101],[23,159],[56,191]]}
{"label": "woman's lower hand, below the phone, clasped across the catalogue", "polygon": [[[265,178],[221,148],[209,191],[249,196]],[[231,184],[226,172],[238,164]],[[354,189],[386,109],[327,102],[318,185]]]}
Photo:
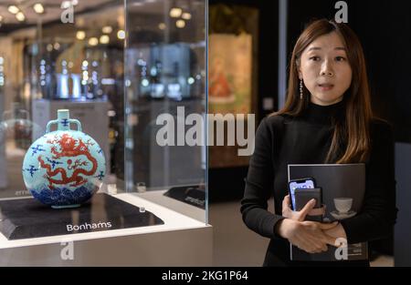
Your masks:
{"label": "woman's lower hand, below the phone, clasped across the catalogue", "polygon": [[324,224],[314,221],[298,221],[282,219],[279,221],[277,233],[299,249],[309,253],[327,251],[327,244],[335,246],[335,238],[325,234],[323,230],[332,229],[338,222]]}

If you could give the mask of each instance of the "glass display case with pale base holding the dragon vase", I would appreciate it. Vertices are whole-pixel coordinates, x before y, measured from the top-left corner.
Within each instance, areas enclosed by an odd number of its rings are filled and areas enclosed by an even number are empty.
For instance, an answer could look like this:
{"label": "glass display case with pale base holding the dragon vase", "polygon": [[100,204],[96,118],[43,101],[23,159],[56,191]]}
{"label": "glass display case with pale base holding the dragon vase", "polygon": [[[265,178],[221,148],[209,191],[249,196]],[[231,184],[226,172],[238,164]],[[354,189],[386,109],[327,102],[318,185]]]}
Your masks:
{"label": "glass display case with pale base holding the dragon vase", "polygon": [[42,5],[0,4],[0,265],[211,265],[205,1]]}

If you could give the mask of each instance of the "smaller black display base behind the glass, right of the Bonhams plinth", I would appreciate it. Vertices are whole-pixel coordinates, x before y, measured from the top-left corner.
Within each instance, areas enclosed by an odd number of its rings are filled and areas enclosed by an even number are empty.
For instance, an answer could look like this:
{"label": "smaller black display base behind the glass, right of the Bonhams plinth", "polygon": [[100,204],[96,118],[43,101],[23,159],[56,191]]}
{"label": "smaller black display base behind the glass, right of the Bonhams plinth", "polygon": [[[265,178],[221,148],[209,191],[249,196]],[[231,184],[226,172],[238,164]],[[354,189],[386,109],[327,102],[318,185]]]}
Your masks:
{"label": "smaller black display base behind the glass, right of the Bonhams plinth", "polygon": [[174,187],[167,190],[163,195],[205,209],[204,185]]}

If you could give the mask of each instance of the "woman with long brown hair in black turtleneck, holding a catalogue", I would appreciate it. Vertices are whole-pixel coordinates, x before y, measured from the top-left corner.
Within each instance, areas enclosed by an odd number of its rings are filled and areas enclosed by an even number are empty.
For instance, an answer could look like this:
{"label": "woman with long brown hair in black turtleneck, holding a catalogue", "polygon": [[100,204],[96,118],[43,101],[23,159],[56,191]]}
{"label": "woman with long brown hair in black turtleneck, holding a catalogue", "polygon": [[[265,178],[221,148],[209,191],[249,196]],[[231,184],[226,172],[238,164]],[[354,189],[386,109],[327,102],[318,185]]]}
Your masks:
{"label": "woman with long brown hair in black turtleneck, holding a catalogue", "polygon": [[[270,239],[264,265],[369,266],[368,260],[290,260],[289,243],[321,252],[336,238],[350,244],[384,238],[395,224],[392,130],[373,117],[363,48],[348,25],[323,19],[302,32],[286,104],[262,120],[255,144],[241,212],[249,229]],[[322,163],[365,163],[364,205],[355,217],[328,224],[303,221],[313,203],[290,210],[287,166]],[[275,214],[267,210],[272,195]]]}

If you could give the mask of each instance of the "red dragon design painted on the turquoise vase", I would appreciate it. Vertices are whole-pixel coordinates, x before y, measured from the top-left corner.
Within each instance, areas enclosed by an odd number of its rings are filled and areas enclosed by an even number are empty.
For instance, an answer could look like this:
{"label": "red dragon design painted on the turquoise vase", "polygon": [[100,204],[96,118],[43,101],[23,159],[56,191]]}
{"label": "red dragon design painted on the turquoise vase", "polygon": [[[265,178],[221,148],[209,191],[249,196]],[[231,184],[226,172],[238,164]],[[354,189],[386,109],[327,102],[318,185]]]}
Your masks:
{"label": "red dragon design painted on the turquoise vase", "polygon": [[[98,162],[96,158],[93,158],[90,154],[89,146],[93,145],[93,143],[90,142],[90,139],[87,142],[83,142],[81,138],[76,139],[69,136],[68,134],[64,134],[61,137],[56,136],[54,137],[54,139],[48,139],[47,143],[58,145],[58,147],[54,146],[51,148],[53,159],[75,158],[83,155],[86,156],[92,163],[92,168],[90,170],[87,170],[80,167],[87,166],[89,164],[88,161],[81,161],[81,159],[76,159],[73,163],[72,159],[68,159],[68,169],[74,170],[72,175],[68,177],[65,168],[53,169],[50,164],[47,164],[43,160],[42,156],[38,156],[37,160],[40,162],[41,168],[45,168],[47,170],[45,177],[48,180],[49,188],[53,189],[55,188],[55,185],[69,185],[71,187],[78,187],[88,182],[88,180],[86,178],[83,178],[81,175],[91,176],[96,172]],[[58,173],[61,174],[60,179],[55,178]]]}

